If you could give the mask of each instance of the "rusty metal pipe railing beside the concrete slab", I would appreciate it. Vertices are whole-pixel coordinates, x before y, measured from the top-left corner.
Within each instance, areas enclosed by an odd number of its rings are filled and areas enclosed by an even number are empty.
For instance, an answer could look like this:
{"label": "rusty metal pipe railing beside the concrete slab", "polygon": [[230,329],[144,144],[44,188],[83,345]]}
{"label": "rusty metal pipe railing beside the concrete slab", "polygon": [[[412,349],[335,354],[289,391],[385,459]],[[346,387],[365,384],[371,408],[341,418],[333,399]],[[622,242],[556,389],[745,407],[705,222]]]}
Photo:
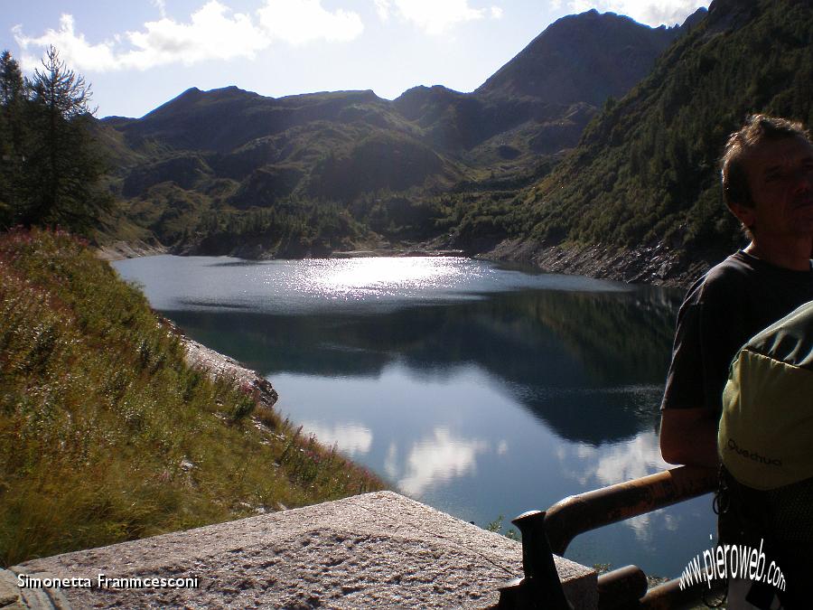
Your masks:
{"label": "rusty metal pipe railing beside the concrete slab", "polygon": [[[513,522],[522,534],[522,563],[525,577],[500,589],[500,608],[572,607],[564,599],[551,553],[564,555],[567,546],[585,531],[624,521],[665,506],[713,492],[717,474],[708,468],[680,466],[640,479],[579,493],[556,502],[547,511],[531,511]],[[544,582],[550,580],[550,582]],[[553,582],[553,581],[556,582]],[[681,590],[679,580],[670,580],[648,590],[640,568],[627,566],[598,577],[600,610],[614,608],[685,608],[696,605],[703,587]],[[558,593],[556,592],[558,591]],[[554,593],[551,593],[553,591]],[[553,596],[553,597],[551,597]]]}

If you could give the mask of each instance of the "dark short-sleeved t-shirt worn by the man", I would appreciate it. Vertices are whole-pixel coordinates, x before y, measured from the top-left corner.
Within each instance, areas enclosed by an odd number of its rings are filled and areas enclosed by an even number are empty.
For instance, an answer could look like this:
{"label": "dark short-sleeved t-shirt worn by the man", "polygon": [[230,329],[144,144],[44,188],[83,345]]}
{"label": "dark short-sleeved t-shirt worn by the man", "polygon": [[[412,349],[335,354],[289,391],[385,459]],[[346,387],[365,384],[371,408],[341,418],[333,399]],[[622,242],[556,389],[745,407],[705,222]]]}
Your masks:
{"label": "dark short-sleeved t-shirt worn by the man", "polygon": [[696,281],[677,314],[661,408],[719,414],[734,355],[751,337],[813,300],[813,270],[775,267],[742,250]]}

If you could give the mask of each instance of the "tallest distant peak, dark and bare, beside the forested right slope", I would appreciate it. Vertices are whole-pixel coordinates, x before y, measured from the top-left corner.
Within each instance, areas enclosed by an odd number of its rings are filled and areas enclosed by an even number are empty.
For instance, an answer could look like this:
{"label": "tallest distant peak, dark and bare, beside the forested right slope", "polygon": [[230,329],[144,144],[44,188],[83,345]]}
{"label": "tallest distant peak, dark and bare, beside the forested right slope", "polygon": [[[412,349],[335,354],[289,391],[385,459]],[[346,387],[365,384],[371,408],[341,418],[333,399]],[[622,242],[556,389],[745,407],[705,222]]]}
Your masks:
{"label": "tallest distant peak, dark and bare, beside the forested right slope", "polygon": [[473,93],[416,87],[394,104],[433,145],[458,151],[467,164],[505,165],[523,156],[527,166],[528,157],[575,145],[604,101],[646,76],[682,31],[594,9],[569,15]]}

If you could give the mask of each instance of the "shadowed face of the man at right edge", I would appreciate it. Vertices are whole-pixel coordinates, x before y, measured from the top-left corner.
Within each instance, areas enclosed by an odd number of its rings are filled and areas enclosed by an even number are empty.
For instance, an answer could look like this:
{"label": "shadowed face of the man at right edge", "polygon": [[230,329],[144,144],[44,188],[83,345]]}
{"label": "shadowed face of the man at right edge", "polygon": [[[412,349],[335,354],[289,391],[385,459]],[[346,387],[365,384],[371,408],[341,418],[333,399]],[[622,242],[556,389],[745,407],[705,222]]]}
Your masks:
{"label": "shadowed face of the man at right edge", "polygon": [[754,239],[813,237],[813,145],[801,136],[765,142],[745,157],[753,207],[734,213]]}

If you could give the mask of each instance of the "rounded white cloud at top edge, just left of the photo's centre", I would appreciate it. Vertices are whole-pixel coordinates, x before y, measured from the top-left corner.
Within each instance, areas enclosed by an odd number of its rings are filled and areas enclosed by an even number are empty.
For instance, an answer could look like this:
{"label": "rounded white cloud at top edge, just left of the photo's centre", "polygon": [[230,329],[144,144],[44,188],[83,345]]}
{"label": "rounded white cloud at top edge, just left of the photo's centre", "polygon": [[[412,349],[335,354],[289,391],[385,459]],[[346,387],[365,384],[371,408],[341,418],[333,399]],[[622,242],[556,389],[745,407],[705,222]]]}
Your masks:
{"label": "rounded white cloud at top edge, just left of the photo's centre", "polygon": [[341,8],[331,13],[321,0],[266,0],[258,14],[267,33],[291,44],[348,42],[364,30],[359,14]]}

